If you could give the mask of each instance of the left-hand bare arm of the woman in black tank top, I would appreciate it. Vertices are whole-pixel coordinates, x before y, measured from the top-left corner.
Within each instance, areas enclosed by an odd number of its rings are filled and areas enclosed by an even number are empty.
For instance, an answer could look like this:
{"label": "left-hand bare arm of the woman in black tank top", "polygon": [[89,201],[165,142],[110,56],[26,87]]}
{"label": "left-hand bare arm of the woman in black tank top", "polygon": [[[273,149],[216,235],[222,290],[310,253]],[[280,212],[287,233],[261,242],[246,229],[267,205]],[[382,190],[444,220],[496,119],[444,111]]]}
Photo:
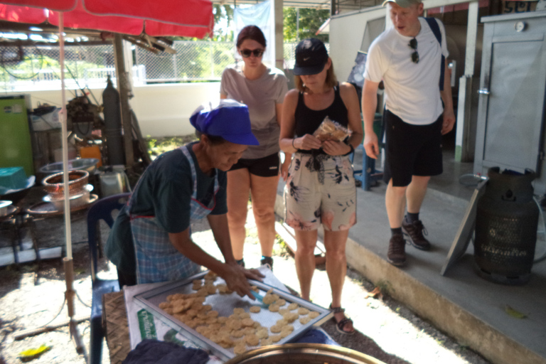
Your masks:
{"label": "left-hand bare arm of the woman in black tank top", "polygon": [[298,90],[290,90],[284,97],[284,102],[282,104],[281,136],[279,138],[279,144],[282,151],[289,154],[294,153],[298,149],[319,149],[322,145],[321,141],[311,134],[305,134],[303,137],[294,138],[298,95]]}

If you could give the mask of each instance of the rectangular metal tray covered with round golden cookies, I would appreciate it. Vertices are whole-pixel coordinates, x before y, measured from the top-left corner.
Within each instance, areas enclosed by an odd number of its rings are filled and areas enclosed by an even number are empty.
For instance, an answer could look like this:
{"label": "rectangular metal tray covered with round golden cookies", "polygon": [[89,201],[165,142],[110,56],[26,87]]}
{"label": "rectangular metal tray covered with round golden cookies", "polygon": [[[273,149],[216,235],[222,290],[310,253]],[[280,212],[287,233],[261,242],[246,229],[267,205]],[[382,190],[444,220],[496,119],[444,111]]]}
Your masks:
{"label": "rectangular metal tray covered with round golden cookies", "polygon": [[240,297],[210,271],[145,291],[134,301],[222,360],[295,341],[332,316],[330,310],[287,291],[249,282],[262,302]]}

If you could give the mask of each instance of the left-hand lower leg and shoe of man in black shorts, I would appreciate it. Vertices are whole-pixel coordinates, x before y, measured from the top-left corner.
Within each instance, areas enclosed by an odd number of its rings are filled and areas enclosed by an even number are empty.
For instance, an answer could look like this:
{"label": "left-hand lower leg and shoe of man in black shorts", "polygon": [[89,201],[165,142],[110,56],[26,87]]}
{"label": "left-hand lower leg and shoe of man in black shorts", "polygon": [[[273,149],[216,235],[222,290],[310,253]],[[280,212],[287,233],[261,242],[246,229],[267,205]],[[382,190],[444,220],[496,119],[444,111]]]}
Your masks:
{"label": "left-hand lower leg and shoe of man in black shorts", "polygon": [[402,235],[402,219],[404,218],[404,209],[406,204],[407,186],[392,186],[392,178],[387,186],[385,193],[385,206],[389,218],[390,230],[392,236],[389,241],[389,250],[387,260],[393,265],[404,265],[406,262],[406,253],[404,236]]}

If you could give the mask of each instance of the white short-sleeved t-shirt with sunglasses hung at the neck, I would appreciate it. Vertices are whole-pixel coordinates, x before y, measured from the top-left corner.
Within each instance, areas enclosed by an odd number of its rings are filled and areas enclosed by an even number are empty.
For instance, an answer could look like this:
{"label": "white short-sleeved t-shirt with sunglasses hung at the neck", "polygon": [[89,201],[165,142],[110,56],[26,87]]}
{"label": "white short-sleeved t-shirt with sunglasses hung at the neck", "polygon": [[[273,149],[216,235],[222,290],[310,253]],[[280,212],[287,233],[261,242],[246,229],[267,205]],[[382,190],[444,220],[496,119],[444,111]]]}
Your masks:
{"label": "white short-sleeved t-shirt with sunglasses hung at the neck", "polygon": [[[438,20],[437,20],[438,21]],[[413,37],[402,36],[390,28],[375,38],[368,50],[364,77],[372,82],[383,80],[387,109],[404,122],[427,125],[444,111],[441,106],[439,80],[441,55],[449,55],[444,25],[438,21],[441,47],[429,24],[419,18],[417,34],[419,63],[412,62]]]}

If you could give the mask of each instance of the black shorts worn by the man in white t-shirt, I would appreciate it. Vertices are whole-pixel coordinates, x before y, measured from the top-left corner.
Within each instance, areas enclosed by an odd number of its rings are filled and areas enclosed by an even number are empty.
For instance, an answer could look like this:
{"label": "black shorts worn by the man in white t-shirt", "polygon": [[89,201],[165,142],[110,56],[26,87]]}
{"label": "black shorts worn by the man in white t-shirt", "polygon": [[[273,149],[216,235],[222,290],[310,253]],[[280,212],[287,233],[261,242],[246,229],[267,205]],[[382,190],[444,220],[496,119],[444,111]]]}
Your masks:
{"label": "black shorts worn by the man in white t-shirt", "polygon": [[437,176],[442,172],[440,117],[428,125],[413,125],[385,110],[385,171],[383,180],[407,186],[412,176]]}

